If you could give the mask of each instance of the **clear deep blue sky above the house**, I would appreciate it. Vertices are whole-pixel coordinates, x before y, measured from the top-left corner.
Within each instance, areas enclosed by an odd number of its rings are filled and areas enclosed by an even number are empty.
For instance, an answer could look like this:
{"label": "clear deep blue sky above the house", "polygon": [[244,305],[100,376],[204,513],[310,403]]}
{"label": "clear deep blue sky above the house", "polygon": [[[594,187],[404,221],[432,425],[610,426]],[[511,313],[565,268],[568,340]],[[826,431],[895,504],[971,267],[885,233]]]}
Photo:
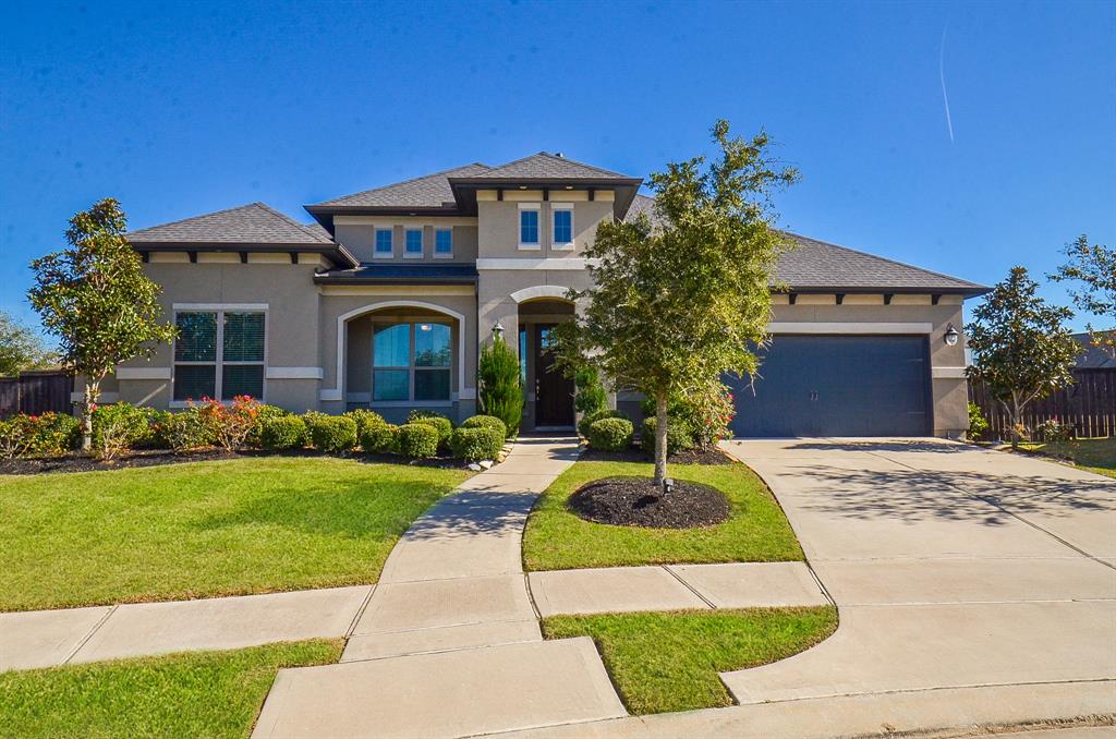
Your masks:
{"label": "clear deep blue sky above the house", "polygon": [[1114,39],[1112,2],[3,3],[0,308],[33,319],[27,262],[106,195],[135,228],[308,220],[540,150],[646,175],[718,117],[801,170],[783,227],[1041,277],[1079,233],[1116,243]]}

